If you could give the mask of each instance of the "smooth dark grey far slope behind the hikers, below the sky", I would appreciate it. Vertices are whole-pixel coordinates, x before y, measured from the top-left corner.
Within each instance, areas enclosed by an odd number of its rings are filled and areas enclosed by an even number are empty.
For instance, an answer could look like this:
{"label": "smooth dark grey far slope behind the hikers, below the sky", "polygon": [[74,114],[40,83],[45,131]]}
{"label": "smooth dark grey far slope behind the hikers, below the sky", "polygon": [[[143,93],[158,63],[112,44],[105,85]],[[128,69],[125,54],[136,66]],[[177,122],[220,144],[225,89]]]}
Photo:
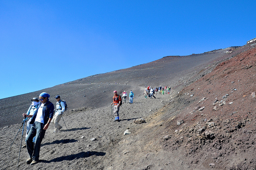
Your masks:
{"label": "smooth dark grey far slope behind the hikers, below the sky", "polygon": [[[243,47],[248,48],[248,47]],[[41,92],[48,92],[50,101],[55,102],[58,94],[68,103],[68,109],[82,107],[100,108],[111,103],[112,92],[133,90],[136,97],[148,85],[171,86],[175,92],[182,90],[212,69],[225,58],[240,52],[241,48],[230,47],[220,50],[192,54],[189,56],[167,56],[154,62],[97,74],[36,92],[0,99],[0,127],[22,121],[22,113],[30,106],[30,99]],[[226,53],[228,52],[228,53]],[[230,53],[231,52],[231,53]]]}

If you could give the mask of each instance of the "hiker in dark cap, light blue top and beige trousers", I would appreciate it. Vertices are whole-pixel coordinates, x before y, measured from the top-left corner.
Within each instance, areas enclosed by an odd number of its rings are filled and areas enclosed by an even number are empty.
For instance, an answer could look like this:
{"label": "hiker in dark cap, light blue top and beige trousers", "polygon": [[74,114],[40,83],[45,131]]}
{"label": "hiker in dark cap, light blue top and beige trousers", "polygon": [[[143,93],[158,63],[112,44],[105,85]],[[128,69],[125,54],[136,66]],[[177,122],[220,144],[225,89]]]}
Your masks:
{"label": "hiker in dark cap, light blue top and beige trousers", "polygon": [[59,122],[60,122],[61,115],[65,111],[65,104],[64,104],[64,102],[62,102],[60,100],[59,95],[57,95],[55,97],[55,99],[56,99],[57,102],[56,102],[55,114],[52,118],[52,122],[53,122],[53,125],[54,125],[54,131],[53,132],[60,132],[60,129],[62,128],[62,126],[60,126]]}

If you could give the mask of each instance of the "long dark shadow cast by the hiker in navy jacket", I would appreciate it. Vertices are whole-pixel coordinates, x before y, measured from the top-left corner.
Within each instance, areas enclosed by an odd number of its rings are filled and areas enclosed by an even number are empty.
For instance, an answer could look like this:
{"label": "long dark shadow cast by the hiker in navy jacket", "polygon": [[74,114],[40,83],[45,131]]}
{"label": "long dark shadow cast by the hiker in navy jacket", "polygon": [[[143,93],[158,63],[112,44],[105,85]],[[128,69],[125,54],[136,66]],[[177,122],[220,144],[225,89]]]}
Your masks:
{"label": "long dark shadow cast by the hiker in navy jacket", "polygon": [[90,156],[104,156],[105,152],[96,152],[96,151],[88,151],[88,152],[80,152],[77,154],[67,155],[67,156],[60,156],[58,158],[54,158],[52,160],[41,160],[42,163],[50,163],[50,162],[61,162],[63,160],[74,160],[79,158],[88,158]]}

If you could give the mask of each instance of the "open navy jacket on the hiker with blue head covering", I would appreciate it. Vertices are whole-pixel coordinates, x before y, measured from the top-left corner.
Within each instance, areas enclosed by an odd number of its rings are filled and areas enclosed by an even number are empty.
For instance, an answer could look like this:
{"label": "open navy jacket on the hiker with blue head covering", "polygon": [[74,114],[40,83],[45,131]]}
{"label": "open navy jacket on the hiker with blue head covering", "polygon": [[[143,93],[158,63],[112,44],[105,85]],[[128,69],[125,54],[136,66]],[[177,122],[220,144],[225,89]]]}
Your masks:
{"label": "open navy jacket on the hiker with blue head covering", "polygon": [[[38,107],[40,108],[40,106]],[[30,124],[34,124],[35,120],[36,120],[36,115],[38,112],[38,108],[36,110],[36,112],[34,113],[34,115],[32,116],[32,120],[30,122]],[[43,119],[44,119],[44,125],[47,123],[49,118],[53,117],[53,111],[54,111],[54,105],[52,104],[52,102],[47,101],[44,104],[44,108],[43,108]]]}

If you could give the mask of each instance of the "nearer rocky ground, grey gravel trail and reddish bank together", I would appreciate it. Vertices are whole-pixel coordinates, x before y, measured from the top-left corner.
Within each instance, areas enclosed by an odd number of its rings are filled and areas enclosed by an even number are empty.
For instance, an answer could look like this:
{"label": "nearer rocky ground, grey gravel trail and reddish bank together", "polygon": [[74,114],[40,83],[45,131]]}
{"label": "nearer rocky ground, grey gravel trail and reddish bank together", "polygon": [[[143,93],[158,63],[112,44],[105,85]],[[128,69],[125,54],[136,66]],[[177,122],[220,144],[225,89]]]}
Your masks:
{"label": "nearer rocky ground, grey gravel trail and reddish bank together", "polygon": [[[50,125],[42,142],[40,163],[34,166],[24,163],[28,154],[22,149],[16,167],[20,135],[10,151],[8,148],[13,140],[10,136],[16,135],[20,124],[4,126],[0,131],[0,167],[255,169],[256,48],[246,45],[226,55],[222,62],[211,60],[209,68],[200,68],[193,78],[201,78],[189,86],[186,83],[191,75],[180,76],[183,79],[176,89],[185,88],[179,93],[174,89],[171,94],[156,95],[156,99],[138,95],[133,104],[123,104],[120,122],[111,119],[109,105],[70,109],[64,115],[68,131],[60,122],[62,132],[52,134]],[[217,67],[210,70],[215,63]],[[136,118],[146,122],[135,124]],[[130,134],[124,135],[125,130]]]}

